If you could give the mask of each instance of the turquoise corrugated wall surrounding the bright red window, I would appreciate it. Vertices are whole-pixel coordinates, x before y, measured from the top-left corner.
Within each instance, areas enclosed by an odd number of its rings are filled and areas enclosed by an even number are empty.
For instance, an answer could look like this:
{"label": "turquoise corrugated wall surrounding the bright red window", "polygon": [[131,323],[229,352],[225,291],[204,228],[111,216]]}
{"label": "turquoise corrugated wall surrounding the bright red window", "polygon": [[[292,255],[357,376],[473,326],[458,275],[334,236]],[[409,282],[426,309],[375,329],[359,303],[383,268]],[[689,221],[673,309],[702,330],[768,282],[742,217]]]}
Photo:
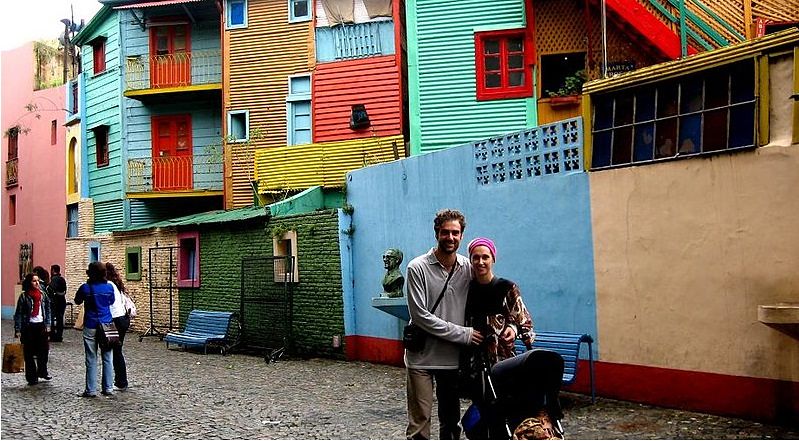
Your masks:
{"label": "turquoise corrugated wall surrounding the bright red window", "polygon": [[408,0],[406,16],[412,155],[536,124],[532,97],[476,100],[474,33],[524,27],[523,0]]}

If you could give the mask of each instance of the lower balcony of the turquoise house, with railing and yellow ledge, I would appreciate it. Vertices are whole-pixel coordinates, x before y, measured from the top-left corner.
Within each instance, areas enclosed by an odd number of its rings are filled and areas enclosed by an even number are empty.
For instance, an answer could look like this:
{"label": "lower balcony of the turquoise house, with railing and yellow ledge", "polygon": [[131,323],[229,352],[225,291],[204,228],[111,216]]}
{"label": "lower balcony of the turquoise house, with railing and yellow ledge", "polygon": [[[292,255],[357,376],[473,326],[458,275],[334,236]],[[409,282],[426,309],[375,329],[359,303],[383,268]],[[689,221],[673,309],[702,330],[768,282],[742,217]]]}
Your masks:
{"label": "lower balcony of the turquoise house, with railing and yellow ledge", "polygon": [[128,159],[127,193],[140,197],[222,194],[221,154]]}

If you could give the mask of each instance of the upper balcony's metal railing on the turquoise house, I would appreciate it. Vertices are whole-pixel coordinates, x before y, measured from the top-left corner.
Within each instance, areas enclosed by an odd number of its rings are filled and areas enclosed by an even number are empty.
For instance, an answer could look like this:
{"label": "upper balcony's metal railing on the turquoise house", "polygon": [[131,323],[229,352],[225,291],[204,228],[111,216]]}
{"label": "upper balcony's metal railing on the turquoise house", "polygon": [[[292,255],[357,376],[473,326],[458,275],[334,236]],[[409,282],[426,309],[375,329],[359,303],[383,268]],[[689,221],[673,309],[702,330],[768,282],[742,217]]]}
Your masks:
{"label": "upper balcony's metal railing on the turquoise house", "polygon": [[125,89],[162,89],[222,82],[222,51],[127,57]]}

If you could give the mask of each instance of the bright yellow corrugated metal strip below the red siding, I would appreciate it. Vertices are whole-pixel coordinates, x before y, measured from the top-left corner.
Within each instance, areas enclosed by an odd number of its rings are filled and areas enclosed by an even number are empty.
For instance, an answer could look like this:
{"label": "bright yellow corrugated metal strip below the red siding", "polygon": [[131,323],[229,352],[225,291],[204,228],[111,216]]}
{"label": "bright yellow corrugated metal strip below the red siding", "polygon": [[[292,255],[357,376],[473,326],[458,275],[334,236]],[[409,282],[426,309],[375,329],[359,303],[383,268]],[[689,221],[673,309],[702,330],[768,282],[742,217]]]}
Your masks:
{"label": "bright yellow corrugated metal strip below the red siding", "polygon": [[259,149],[255,152],[258,189],[341,187],[347,172],[399,159],[403,151],[402,135]]}

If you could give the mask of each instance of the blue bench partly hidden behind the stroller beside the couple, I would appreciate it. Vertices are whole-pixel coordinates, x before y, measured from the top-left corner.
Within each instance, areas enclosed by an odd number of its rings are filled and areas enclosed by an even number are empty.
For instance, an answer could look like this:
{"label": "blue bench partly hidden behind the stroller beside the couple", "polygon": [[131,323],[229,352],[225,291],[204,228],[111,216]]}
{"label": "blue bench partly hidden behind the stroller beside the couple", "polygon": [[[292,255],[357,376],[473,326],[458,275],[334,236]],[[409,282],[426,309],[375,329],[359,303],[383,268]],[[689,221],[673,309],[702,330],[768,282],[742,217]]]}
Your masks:
{"label": "blue bench partly hidden behind the stroller beside the couple", "polygon": [[[591,380],[591,403],[596,402],[594,389],[594,354],[591,351],[593,337],[588,334],[571,332],[535,331],[533,349],[548,349],[563,357],[563,385],[568,386],[577,380],[577,365],[580,360],[580,345],[588,344],[588,366]],[[516,353],[523,353],[527,348],[521,340],[516,340]]]}

